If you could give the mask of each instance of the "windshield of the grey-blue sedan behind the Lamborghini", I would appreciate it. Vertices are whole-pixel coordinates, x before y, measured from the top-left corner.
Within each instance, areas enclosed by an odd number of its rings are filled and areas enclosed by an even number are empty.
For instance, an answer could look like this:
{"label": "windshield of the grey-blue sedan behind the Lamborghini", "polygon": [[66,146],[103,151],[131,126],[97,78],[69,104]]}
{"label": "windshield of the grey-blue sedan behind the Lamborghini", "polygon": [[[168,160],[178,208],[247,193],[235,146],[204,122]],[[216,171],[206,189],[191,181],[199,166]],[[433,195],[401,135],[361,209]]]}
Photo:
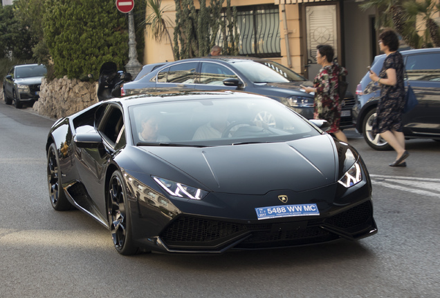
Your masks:
{"label": "windshield of the grey-blue sedan behind the Lamborghini", "polygon": [[288,83],[290,81],[306,81],[293,70],[273,61],[234,61],[235,68],[253,83]]}

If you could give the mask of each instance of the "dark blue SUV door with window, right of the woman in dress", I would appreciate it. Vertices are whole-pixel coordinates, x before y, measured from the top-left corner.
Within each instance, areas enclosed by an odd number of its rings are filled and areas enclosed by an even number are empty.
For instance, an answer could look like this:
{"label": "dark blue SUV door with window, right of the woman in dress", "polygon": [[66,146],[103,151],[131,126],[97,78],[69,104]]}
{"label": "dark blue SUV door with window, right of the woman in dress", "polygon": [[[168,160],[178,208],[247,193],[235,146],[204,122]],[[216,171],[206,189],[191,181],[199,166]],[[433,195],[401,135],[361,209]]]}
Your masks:
{"label": "dark blue SUV door with window, right of the woman in dress", "polygon": [[405,58],[407,82],[419,104],[403,115],[405,128],[414,135],[440,131],[440,52],[408,55]]}

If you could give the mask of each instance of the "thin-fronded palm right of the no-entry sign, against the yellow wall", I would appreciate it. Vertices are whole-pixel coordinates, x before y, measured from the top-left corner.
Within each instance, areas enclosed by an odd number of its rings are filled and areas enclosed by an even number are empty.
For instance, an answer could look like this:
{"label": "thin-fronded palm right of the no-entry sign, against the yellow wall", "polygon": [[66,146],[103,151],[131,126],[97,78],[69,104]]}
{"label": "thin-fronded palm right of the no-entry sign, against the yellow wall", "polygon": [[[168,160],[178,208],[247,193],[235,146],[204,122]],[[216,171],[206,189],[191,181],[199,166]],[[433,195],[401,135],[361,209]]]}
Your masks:
{"label": "thin-fronded palm right of the no-entry sign, against the yellow wall", "polygon": [[[166,36],[169,40],[171,50],[173,52],[174,61],[176,61],[176,55],[173,50],[173,43],[171,35],[167,26],[169,25],[169,19],[165,18],[164,12],[167,8],[161,8],[161,0],[146,0],[147,8],[149,8],[149,14],[145,18],[145,26],[148,26],[153,34],[154,40],[162,41]],[[141,24],[142,26],[143,24]]]}

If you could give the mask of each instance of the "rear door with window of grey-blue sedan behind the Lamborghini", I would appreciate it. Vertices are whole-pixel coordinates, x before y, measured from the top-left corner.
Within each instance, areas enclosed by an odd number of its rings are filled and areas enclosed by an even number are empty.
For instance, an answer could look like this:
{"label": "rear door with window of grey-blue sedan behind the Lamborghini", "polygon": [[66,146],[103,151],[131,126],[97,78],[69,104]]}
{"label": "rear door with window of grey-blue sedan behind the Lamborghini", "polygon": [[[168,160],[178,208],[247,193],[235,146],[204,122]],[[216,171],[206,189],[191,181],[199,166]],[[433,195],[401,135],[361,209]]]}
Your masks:
{"label": "rear door with window of grey-blue sedan behind the Lamborghini", "polygon": [[188,88],[194,89],[198,61],[176,63],[158,72],[156,89]]}

